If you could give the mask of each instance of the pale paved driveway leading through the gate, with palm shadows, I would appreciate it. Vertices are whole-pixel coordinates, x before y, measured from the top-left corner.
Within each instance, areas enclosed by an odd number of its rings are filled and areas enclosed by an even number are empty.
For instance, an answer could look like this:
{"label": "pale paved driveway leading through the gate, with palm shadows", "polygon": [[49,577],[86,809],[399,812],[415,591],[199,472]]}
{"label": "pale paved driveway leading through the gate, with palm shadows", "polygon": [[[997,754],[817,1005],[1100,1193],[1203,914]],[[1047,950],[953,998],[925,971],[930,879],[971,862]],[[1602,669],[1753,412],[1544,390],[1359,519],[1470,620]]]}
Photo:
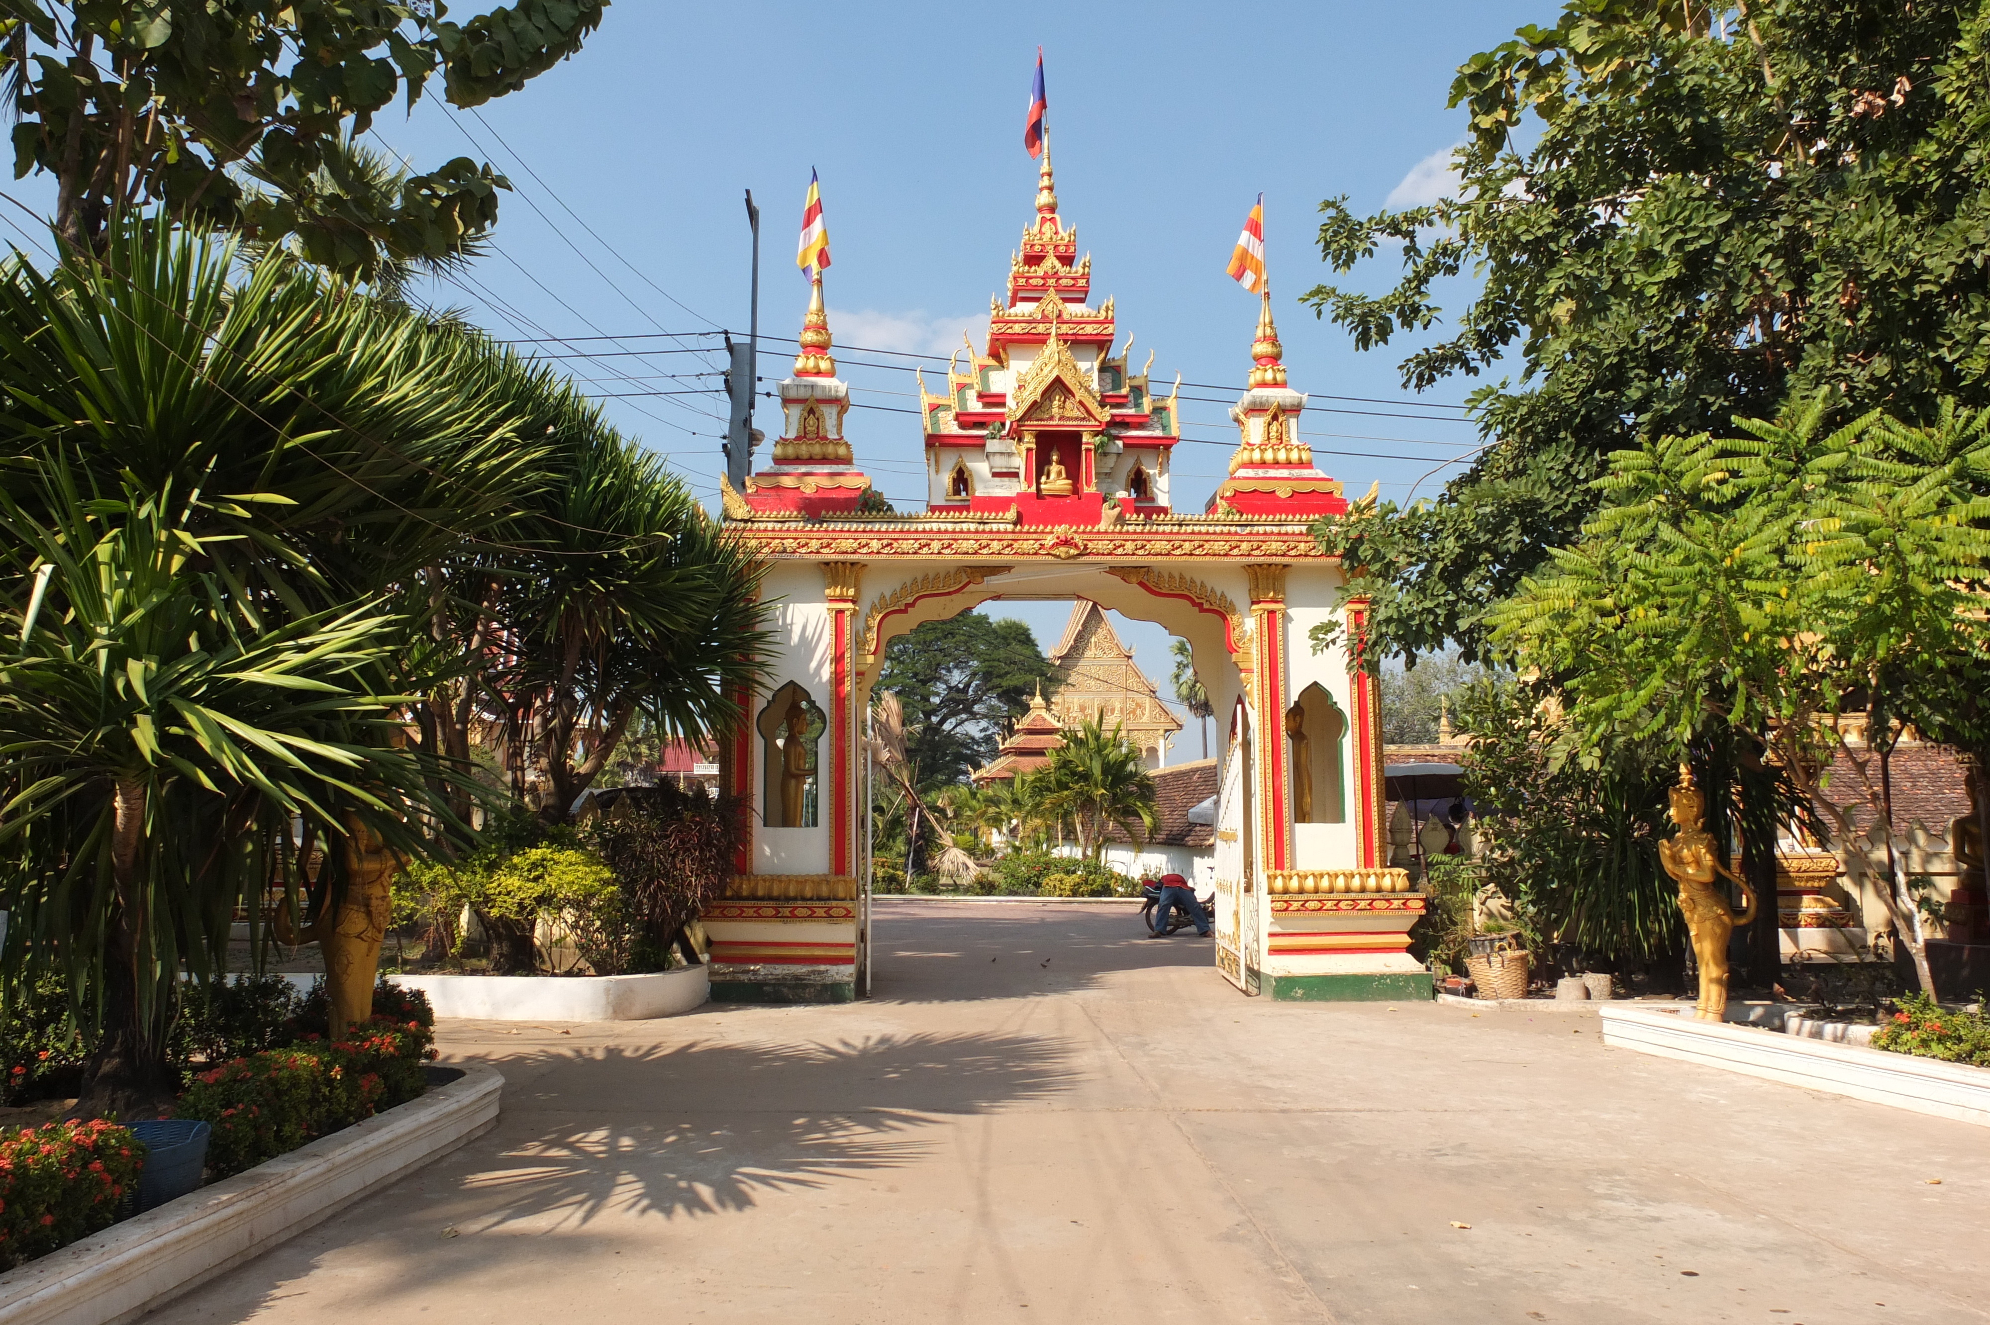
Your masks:
{"label": "pale paved driveway leading through the gate, with palm shadows", "polygon": [[151,1321],[1990,1319],[1982,1128],[1134,933],[888,901],[868,1003],[452,1025],[498,1130]]}

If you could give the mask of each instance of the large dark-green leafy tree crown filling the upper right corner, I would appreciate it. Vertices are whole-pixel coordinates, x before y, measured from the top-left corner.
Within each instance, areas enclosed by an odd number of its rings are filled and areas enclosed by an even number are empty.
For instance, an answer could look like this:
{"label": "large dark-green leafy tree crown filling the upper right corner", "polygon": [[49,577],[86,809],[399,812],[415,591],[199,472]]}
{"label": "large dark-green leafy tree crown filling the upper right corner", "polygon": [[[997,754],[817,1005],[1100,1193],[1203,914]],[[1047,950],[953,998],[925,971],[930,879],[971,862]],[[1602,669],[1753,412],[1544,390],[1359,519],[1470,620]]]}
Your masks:
{"label": "large dark-green leafy tree crown filling the upper right corner", "polygon": [[1335,271],[1401,245],[1395,288],[1305,294],[1359,348],[1433,326],[1435,283],[1473,269],[1483,290],[1403,382],[1516,368],[1471,396],[1489,448],[1437,503],[1323,529],[1369,573],[1385,647],[1477,657],[1612,452],[1821,388],[1904,424],[1990,404],[1986,38],[1962,0],[1572,0],[1459,70],[1451,199],[1321,205]]}

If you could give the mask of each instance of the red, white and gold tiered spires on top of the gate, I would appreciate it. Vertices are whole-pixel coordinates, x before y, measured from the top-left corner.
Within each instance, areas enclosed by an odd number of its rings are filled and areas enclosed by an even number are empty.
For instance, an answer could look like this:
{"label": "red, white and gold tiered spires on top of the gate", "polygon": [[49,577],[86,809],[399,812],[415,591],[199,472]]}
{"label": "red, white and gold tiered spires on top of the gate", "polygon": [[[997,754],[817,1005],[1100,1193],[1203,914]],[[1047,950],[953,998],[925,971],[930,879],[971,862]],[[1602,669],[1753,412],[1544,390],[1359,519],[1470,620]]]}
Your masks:
{"label": "red, white and gold tiered spires on top of the gate", "polygon": [[[1037,219],[1009,259],[1007,298],[989,300],[989,332],[947,364],[947,390],[919,376],[929,519],[959,515],[1025,527],[1100,529],[1166,519],[1180,380],[1154,398],[1146,368],[1118,344],[1112,300],[1093,304],[1093,259],[1057,211],[1045,143]],[[726,495],[732,519],[838,519],[864,507],[870,477],[844,440],[850,388],[836,376],[822,277],[814,279],[802,352],[780,384],[782,436],[772,466]],[[1116,350],[1116,352],[1114,352]],[[1339,481],[1313,468],[1299,438],[1305,394],[1286,382],[1284,346],[1264,292],[1250,386],[1230,410],[1238,450],[1210,497],[1212,515],[1313,519],[1347,509]],[[880,515],[890,523],[890,515]]]}

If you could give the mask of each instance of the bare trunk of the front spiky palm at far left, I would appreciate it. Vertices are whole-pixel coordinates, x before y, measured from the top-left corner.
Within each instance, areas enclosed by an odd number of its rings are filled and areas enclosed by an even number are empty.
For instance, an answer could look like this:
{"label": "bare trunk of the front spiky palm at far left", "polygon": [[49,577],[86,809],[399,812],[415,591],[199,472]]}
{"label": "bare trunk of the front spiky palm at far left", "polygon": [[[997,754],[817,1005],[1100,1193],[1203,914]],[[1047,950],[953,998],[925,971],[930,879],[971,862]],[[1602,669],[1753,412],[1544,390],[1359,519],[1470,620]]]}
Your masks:
{"label": "bare trunk of the front spiky palm at far left", "polygon": [[111,917],[103,953],[103,1039],[84,1064],[72,1118],[163,1118],[173,1112],[173,1072],[159,1017],[143,1015],[145,782],[119,778],[111,806]]}

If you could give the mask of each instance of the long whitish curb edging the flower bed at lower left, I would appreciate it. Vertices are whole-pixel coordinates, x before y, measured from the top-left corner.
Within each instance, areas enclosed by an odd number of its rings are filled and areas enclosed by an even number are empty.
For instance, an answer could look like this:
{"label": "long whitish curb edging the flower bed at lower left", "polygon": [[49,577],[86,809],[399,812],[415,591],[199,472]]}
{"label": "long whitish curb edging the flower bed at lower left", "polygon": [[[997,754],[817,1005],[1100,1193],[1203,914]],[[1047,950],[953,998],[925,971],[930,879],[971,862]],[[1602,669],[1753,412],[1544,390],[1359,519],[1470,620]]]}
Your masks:
{"label": "long whitish curb edging the flower bed at lower left", "polygon": [[[456,1066],[456,1064],[450,1064]],[[0,1325],[117,1325],[269,1251],[498,1122],[503,1076],[462,1078],[0,1275]]]}

